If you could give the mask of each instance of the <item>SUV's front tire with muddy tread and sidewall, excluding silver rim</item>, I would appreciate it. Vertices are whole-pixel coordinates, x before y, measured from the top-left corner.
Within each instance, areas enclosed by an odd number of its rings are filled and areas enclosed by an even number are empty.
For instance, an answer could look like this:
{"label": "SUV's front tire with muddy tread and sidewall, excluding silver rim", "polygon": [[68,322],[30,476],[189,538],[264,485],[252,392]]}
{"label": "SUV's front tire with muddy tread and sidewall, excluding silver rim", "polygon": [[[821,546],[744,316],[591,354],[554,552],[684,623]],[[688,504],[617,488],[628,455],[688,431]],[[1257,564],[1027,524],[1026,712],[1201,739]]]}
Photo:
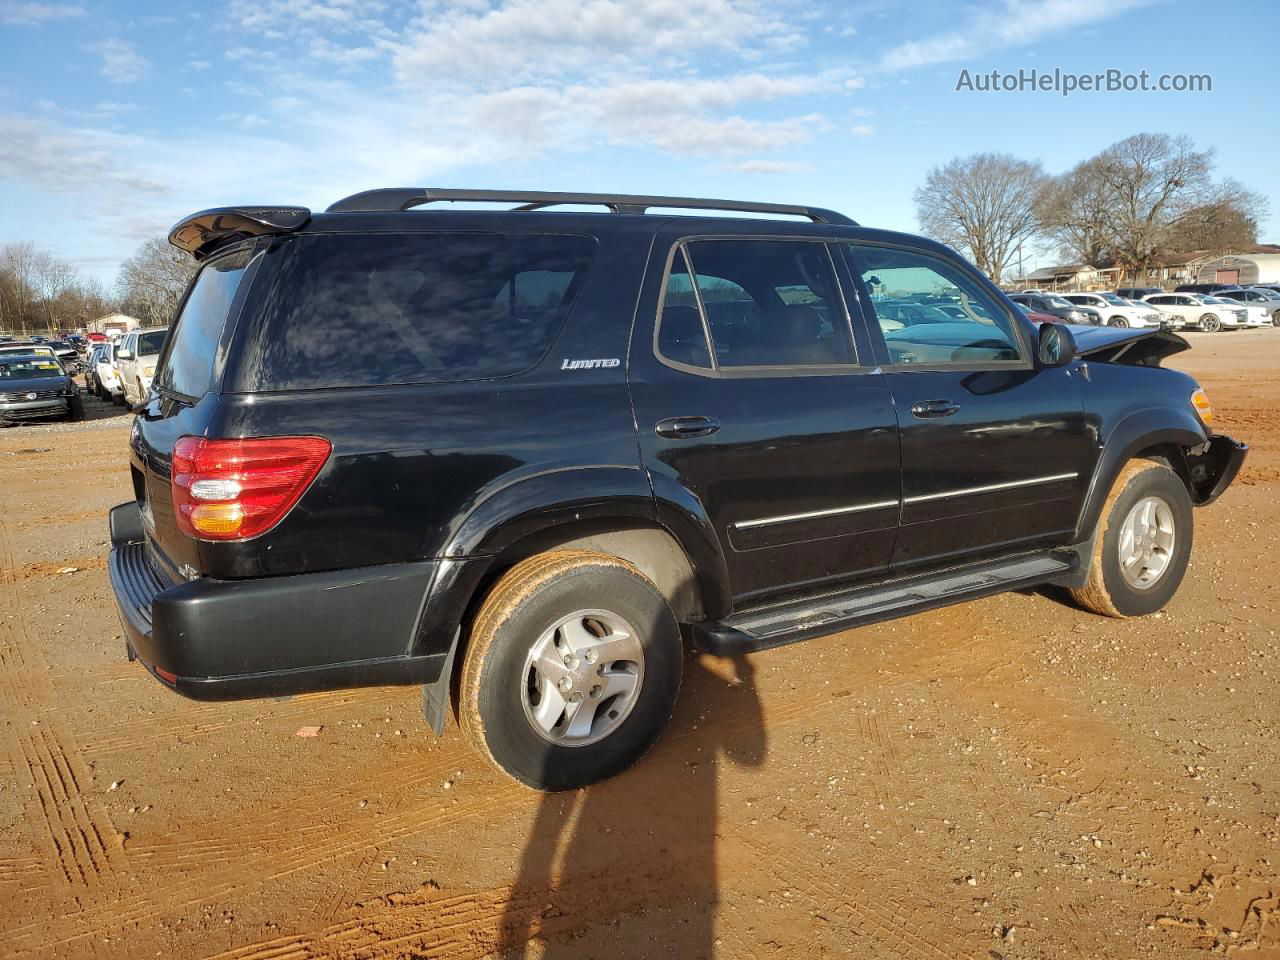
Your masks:
{"label": "SUV's front tire with muddy tread and sidewall, excluding silver rim", "polygon": [[[1129,511],[1146,497],[1162,499],[1174,517],[1174,549],[1169,567],[1146,589],[1125,581],[1120,572],[1120,527]],[[1192,502],[1187,485],[1162,463],[1149,460],[1129,461],[1120,471],[1102,513],[1100,530],[1089,561],[1089,580],[1071,596],[1085,609],[1105,617],[1143,617],[1161,609],[1178,591],[1192,556]]]}

